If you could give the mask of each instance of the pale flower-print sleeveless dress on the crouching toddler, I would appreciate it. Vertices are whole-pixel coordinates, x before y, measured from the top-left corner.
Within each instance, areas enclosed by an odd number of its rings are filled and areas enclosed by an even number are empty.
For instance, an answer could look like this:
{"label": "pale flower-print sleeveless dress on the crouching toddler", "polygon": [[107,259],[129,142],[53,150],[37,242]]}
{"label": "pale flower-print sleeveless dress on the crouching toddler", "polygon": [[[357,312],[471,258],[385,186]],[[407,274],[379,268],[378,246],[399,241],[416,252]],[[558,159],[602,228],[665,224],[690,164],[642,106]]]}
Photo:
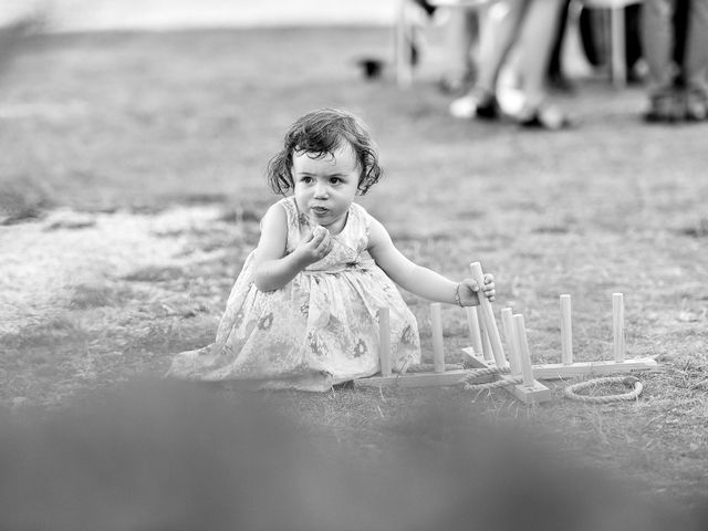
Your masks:
{"label": "pale flower-print sleeveless dress on the crouching toddler", "polygon": [[[287,212],[285,252],[291,253],[310,229],[294,197],[279,205]],[[416,319],[366,252],[368,219],[361,205],[352,204],[344,228],[333,235],[332,251],[275,291],[256,288],[252,251],[231,290],[216,342],[177,354],[167,376],[327,391],[379,371],[379,306],[389,308],[394,371],[418,364]]]}

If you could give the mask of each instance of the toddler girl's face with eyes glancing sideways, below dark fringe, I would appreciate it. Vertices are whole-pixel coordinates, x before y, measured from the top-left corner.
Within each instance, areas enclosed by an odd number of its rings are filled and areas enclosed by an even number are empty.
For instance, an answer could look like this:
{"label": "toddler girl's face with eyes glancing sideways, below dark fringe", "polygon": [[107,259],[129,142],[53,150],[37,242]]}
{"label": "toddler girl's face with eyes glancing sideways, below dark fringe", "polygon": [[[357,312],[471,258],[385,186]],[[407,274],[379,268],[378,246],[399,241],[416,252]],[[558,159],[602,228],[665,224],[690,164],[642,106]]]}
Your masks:
{"label": "toddler girl's face with eyes glancing sideways, below dark fringe", "polygon": [[356,196],[360,175],[356,155],[348,144],[321,158],[295,152],[292,176],[299,210],[336,235],[346,223],[346,212]]}

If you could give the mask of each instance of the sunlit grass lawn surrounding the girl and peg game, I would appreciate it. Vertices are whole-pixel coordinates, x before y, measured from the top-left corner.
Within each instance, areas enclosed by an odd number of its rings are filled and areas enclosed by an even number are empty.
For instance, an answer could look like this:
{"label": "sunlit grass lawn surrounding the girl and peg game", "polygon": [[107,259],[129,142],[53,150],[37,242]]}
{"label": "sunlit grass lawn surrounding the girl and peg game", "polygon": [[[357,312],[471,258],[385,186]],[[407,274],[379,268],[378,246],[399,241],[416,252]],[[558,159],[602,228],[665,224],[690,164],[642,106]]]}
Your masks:
{"label": "sunlit grass lawn surrounding the girl and peg game", "polygon": [[[419,263],[452,278],[479,260],[497,311],[525,316],[537,363],[560,361],[559,295],[580,361],[608,358],[612,293],[628,357],[655,356],[632,403],[503,391],[341,389],[269,399],[368,458],[431,402],[541,427],[641,490],[702,508],[708,494],[708,124],[648,126],[638,87],[577,80],[577,127],[520,131],[447,115],[430,65],[413,90],[365,81],[382,29],[111,33],[28,39],[0,76],[0,402],[42,410],[211,341],[229,288],[277,197],[263,168],[288,125],[344,107],[371,126],[385,176],[365,207]],[[425,61],[425,56],[424,56]],[[71,210],[66,210],[71,209]],[[405,294],[430,351],[427,303]],[[451,361],[464,312],[444,309]]]}

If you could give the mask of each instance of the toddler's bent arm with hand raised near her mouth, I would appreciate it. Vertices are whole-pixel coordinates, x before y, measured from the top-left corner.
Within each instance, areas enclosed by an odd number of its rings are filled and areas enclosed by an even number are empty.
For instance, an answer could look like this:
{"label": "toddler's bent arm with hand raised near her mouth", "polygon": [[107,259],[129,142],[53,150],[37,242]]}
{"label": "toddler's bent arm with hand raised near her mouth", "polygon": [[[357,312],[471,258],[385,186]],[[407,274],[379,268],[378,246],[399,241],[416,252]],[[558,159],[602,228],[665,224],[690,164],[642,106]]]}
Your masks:
{"label": "toddler's bent arm with hand raised near her mouth", "polygon": [[279,290],[304,268],[322,260],[332,249],[326,229],[305,236],[290,254],[285,254],[288,216],[281,205],[268,209],[261,221],[261,238],[254,259],[253,283],[260,291]]}

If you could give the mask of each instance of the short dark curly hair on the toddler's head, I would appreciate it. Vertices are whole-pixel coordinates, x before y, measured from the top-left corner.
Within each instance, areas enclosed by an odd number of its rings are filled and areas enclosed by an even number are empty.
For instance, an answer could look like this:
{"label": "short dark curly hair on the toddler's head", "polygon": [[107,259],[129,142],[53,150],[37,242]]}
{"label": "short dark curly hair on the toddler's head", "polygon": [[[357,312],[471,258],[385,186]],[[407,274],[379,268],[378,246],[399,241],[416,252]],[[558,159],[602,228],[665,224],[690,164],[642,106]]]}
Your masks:
{"label": "short dark curly hair on the toddler's head", "polygon": [[293,153],[315,154],[315,158],[322,158],[332,155],[344,142],[352,146],[361,169],[357,190],[361,195],[366,194],[383,173],[376,144],[361,118],[333,108],[312,111],[290,126],[283,148],[268,163],[268,184],[275,194],[287,195],[295,186]]}

